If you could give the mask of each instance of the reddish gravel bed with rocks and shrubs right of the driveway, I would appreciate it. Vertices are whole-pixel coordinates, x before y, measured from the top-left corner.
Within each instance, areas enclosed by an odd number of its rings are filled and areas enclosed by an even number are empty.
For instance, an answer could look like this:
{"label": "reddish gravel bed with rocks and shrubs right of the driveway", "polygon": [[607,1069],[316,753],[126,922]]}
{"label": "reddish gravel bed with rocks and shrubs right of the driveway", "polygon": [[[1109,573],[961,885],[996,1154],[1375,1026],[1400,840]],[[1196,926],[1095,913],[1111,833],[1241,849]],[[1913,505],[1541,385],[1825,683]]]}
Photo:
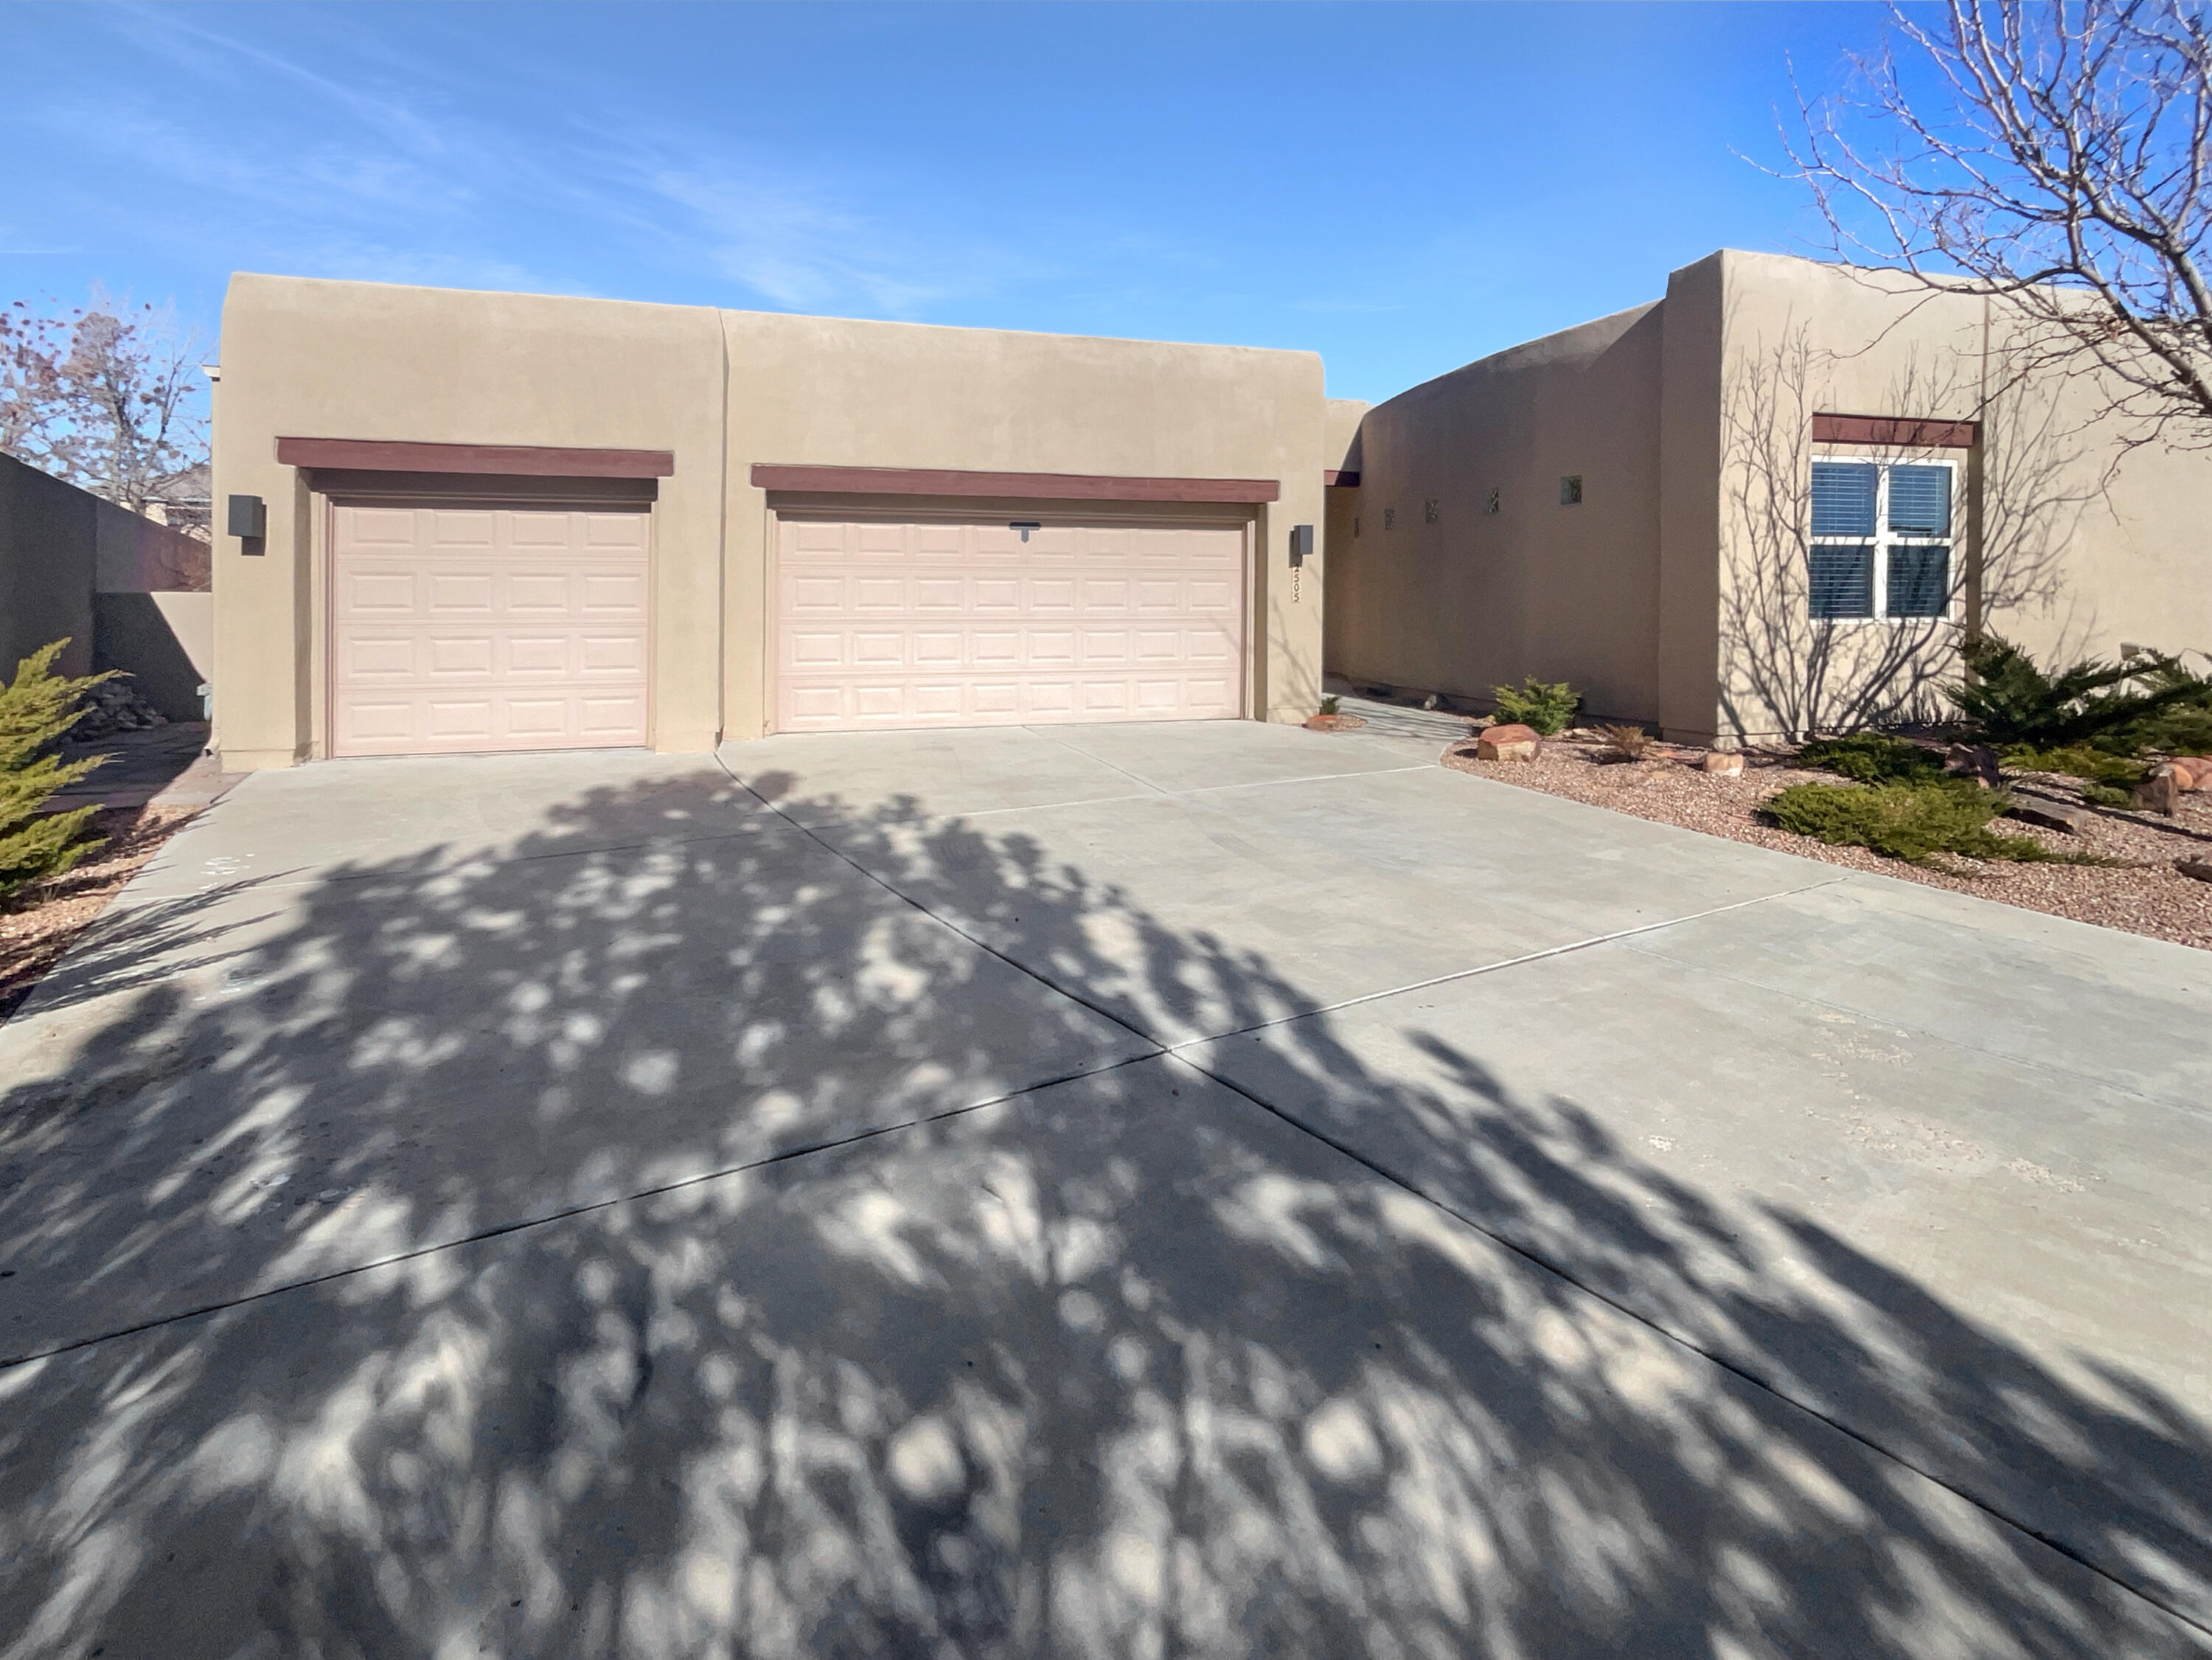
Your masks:
{"label": "reddish gravel bed with rocks and shrubs right of the driveway", "polygon": [[[1471,735],[1451,744],[1442,761],[1475,777],[1564,795],[1639,819],[2212,950],[2212,883],[2174,870],[2174,859],[2212,859],[2212,790],[2185,795],[2181,815],[2170,823],[2163,819],[2152,823],[2146,815],[2093,810],[2079,834],[2015,819],[1997,819],[1991,826],[2004,834],[2033,837],[2059,852],[2117,859],[2121,861],[2117,868],[1951,859],[1942,870],[1927,870],[1902,859],[1882,859],[1865,848],[1832,848],[1812,837],[1794,837],[1759,819],[1759,803],[1776,790],[1790,784],[1843,784],[1834,772],[1792,766],[1785,753],[1754,750],[1745,755],[1741,777],[1717,777],[1699,770],[1703,757],[1705,750],[1652,744],[1644,759],[1621,761],[1595,730],[1575,728],[1546,739],[1544,753],[1533,761],[1475,759]],[[2075,779],[2068,777],[2024,775],[2020,795],[2026,799],[2031,792],[2070,806],[2081,801]]]}

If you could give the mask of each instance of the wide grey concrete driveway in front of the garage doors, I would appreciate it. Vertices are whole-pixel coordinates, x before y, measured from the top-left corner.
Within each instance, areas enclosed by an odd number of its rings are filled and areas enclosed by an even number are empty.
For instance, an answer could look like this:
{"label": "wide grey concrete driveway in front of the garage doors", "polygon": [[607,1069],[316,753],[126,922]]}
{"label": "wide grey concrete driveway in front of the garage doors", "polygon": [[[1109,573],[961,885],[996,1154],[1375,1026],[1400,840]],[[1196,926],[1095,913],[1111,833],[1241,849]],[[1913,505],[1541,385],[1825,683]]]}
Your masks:
{"label": "wide grey concrete driveway in front of the garage doors", "polygon": [[248,779],[0,1027],[0,1656],[2212,1651],[2212,956],[1436,750]]}

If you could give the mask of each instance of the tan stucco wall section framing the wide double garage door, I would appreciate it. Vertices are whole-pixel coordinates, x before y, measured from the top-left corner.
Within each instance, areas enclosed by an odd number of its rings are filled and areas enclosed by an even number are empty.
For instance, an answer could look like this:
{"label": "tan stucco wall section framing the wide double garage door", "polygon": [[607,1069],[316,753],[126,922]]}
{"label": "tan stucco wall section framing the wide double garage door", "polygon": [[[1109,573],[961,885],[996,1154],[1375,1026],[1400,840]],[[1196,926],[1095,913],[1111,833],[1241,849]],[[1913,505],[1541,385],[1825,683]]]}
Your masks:
{"label": "tan stucco wall section framing the wide double garage door", "polygon": [[[1323,390],[1312,352],[776,312],[723,312],[721,323],[730,356],[723,695],[732,737],[754,737],[768,719],[770,498],[752,487],[752,463],[1281,480],[1281,500],[1256,509],[1252,708],[1272,719],[1314,713],[1321,580],[1307,571],[1294,600],[1287,573],[1290,527],[1318,525],[1323,507]],[[885,507],[869,498],[849,505]]]}

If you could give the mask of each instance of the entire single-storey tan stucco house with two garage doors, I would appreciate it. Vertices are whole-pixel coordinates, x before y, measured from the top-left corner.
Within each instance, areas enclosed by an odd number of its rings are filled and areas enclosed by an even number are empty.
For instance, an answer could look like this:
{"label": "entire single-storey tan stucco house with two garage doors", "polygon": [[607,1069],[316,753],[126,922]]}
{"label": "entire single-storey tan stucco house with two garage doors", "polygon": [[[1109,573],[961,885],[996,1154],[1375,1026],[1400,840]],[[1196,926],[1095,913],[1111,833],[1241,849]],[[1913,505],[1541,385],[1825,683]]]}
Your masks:
{"label": "entire single-storey tan stucco house with two garage doors", "polygon": [[2212,460],[1801,259],[1374,409],[1307,352],[257,274],[217,376],[228,768],[1303,719],[1325,662],[1734,741],[1913,708],[1971,618],[2212,640]]}

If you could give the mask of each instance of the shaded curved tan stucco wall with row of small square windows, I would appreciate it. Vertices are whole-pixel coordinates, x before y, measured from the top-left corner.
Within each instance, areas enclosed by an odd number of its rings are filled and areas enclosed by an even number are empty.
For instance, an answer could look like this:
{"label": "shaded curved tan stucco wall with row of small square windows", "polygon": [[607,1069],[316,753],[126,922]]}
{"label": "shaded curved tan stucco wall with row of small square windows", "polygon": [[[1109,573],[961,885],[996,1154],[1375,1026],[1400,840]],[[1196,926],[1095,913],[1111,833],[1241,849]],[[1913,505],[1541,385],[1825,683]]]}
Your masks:
{"label": "shaded curved tan stucco wall with row of small square windows", "polygon": [[1360,487],[1338,491],[1358,527],[1332,560],[1332,671],[1473,699],[1568,679],[1595,713],[1652,717],[1659,321],[1619,312],[1367,412]]}

